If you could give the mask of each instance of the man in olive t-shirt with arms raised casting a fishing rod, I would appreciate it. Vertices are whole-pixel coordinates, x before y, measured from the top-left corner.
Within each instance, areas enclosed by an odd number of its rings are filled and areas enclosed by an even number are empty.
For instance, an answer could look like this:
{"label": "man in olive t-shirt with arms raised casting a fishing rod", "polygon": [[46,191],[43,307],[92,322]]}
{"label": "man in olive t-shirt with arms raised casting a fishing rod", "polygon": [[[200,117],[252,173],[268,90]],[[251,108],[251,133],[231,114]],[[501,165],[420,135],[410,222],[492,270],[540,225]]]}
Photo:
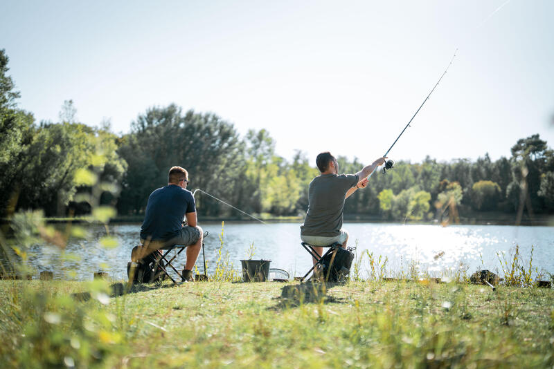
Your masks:
{"label": "man in olive t-shirt with arms raised casting a fishing rod", "polygon": [[339,176],[339,164],[331,153],[327,151],[317,155],[316,164],[321,175],[310,182],[307,213],[300,227],[300,237],[303,242],[312,245],[320,256],[323,252],[321,246],[338,242],[346,247],[348,232],[342,229],[344,200],[357,189],[365,188],[367,177],[384,164],[385,159],[375,160],[358,173]]}

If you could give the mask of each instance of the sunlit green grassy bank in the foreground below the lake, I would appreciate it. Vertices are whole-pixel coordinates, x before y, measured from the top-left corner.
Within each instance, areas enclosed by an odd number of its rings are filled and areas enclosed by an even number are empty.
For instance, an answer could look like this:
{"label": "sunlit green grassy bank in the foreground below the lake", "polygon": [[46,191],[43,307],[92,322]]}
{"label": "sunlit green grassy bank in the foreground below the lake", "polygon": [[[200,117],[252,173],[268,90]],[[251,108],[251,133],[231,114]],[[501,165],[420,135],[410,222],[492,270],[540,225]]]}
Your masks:
{"label": "sunlit green grassy bank in the foreground below the lake", "polygon": [[[0,361],[3,368],[554,365],[551,289],[352,281],[282,299],[286,285],[143,285],[108,298],[101,281],[0,281]],[[71,297],[84,291],[92,299]]]}

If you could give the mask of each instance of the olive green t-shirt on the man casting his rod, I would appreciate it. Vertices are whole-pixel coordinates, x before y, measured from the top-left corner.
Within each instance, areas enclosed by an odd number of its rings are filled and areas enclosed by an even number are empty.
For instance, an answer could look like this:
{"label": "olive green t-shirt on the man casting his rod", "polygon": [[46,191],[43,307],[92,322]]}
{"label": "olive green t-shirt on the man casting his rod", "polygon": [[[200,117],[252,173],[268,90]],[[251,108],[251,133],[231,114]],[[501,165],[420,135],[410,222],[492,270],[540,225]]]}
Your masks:
{"label": "olive green t-shirt on the man casting his rod", "polygon": [[334,237],[340,234],[344,196],[357,185],[356,174],[321,174],[310,182],[307,213],[300,234]]}

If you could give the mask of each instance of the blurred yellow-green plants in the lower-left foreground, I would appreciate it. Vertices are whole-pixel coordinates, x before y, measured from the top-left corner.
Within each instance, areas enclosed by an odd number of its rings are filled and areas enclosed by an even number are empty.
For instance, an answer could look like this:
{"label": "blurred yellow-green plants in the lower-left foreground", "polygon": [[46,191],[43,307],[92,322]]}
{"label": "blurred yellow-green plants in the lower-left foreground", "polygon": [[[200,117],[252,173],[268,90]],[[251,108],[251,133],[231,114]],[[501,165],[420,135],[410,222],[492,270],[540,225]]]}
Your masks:
{"label": "blurred yellow-green plants in the lower-left foreground", "polygon": [[[93,154],[99,155],[94,151]],[[98,167],[100,162],[92,164]],[[96,178],[87,184],[92,193],[96,187],[105,186]],[[94,206],[96,218],[90,220],[107,223],[109,218],[105,214],[109,209]],[[65,252],[65,248],[69,236],[86,236],[81,227],[74,225],[64,231],[57,230],[44,224],[40,211],[13,214],[9,226],[10,231],[2,229],[0,233],[0,249],[8,256],[10,266],[2,265],[0,274],[3,276],[36,274],[37,271],[28,264],[32,245],[53,248],[62,258],[79,261],[78,256]],[[102,237],[102,240],[107,239],[109,234]],[[59,269],[59,265],[50,267]],[[70,296],[67,282],[3,282],[8,289],[3,291],[0,303],[0,333],[3,337],[10,337],[0,346],[3,367],[102,368],[113,366],[111,359],[116,353],[127,351],[125,332],[121,330],[127,318],[106,309],[110,303],[110,289],[105,281],[83,284],[88,292],[82,296],[86,296],[84,300],[90,299],[88,302],[78,301],[76,295]]]}

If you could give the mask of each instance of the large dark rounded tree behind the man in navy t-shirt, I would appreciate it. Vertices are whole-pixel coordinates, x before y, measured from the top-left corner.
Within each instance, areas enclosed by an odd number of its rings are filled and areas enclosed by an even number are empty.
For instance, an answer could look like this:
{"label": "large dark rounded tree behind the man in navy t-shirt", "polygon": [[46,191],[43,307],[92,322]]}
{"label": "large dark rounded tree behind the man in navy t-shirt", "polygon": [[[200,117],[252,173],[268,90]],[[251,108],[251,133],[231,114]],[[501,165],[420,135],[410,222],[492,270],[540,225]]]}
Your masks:
{"label": "large dark rounded tree behind the man in navy t-shirt", "polygon": [[[129,164],[122,180],[118,210],[122,214],[144,211],[150,193],[167,184],[170,167],[187,169],[190,189],[199,188],[233,201],[233,184],[244,175],[238,134],[232,124],[217,115],[198,114],[170,104],[149,108],[132,123],[118,153]],[[194,187],[193,187],[194,186]],[[205,215],[217,215],[221,204],[197,197]]]}

